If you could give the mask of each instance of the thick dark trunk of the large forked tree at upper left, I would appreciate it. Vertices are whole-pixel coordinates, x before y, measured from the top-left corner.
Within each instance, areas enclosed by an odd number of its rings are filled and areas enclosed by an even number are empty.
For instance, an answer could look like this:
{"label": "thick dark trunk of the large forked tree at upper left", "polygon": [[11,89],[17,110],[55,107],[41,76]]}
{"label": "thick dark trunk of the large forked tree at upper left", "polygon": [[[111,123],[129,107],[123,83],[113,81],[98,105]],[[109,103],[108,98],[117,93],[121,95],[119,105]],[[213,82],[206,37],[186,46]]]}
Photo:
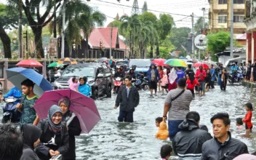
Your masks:
{"label": "thick dark trunk of the large forked tree at upper left", "polygon": [[41,40],[42,26],[31,27],[33,31],[33,35],[35,36],[36,43],[36,57],[41,58],[44,57],[44,49],[43,43]]}

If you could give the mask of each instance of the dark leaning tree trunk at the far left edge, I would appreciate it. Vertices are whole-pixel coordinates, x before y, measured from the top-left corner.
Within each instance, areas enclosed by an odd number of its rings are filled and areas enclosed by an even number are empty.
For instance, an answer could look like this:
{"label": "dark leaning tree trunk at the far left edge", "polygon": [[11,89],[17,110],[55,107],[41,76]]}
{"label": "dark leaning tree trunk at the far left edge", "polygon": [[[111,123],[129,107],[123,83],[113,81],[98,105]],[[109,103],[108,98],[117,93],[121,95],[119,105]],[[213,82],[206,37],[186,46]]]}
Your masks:
{"label": "dark leaning tree trunk at the far left edge", "polygon": [[4,57],[5,58],[12,58],[12,51],[11,51],[11,40],[9,36],[4,31],[4,28],[0,27],[0,39],[4,45]]}

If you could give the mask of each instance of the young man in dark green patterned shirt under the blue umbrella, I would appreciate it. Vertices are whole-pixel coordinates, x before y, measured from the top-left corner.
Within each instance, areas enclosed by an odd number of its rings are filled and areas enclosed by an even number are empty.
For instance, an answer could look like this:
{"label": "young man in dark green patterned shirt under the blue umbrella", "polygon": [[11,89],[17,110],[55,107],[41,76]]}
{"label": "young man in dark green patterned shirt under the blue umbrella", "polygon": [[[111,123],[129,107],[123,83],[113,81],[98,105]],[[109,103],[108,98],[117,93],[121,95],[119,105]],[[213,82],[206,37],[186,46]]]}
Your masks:
{"label": "young man in dark green patterned shirt under the blue umbrella", "polygon": [[20,126],[22,124],[33,124],[33,121],[36,119],[36,111],[33,105],[35,105],[39,97],[34,94],[33,85],[33,81],[30,79],[25,79],[21,82],[24,95],[20,99],[22,104],[17,103],[16,105],[18,111],[23,113],[20,117]]}

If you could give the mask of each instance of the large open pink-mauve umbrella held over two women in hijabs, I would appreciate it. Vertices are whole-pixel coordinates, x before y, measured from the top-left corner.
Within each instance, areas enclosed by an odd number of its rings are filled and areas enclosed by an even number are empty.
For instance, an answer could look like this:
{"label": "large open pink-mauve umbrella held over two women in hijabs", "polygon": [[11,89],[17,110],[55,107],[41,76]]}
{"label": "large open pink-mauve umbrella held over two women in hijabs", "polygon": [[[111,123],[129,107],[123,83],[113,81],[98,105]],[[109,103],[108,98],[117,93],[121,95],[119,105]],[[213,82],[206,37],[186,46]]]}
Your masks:
{"label": "large open pink-mauve umbrella held over two women in hijabs", "polygon": [[36,105],[33,107],[39,119],[47,118],[49,108],[52,105],[58,105],[58,100],[63,96],[71,100],[69,109],[79,118],[81,133],[89,133],[97,122],[100,121],[100,113],[97,111],[94,100],[71,89],[44,92],[39,100],[36,100]]}

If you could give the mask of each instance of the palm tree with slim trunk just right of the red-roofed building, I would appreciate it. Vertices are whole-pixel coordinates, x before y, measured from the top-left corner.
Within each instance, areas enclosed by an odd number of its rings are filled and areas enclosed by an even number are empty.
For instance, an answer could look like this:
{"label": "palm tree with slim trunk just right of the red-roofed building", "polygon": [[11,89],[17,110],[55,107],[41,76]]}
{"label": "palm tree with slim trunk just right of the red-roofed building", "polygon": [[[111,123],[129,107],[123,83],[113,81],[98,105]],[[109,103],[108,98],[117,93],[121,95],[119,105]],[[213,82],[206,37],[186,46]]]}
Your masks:
{"label": "palm tree with slim trunk just right of the red-roofed building", "polygon": [[131,17],[124,15],[120,18],[120,20],[123,22],[120,27],[121,30],[129,31],[129,49],[131,51],[129,54],[130,58],[131,55],[133,55],[135,35],[140,32],[142,23],[140,21],[139,15],[136,14],[132,15]]}

